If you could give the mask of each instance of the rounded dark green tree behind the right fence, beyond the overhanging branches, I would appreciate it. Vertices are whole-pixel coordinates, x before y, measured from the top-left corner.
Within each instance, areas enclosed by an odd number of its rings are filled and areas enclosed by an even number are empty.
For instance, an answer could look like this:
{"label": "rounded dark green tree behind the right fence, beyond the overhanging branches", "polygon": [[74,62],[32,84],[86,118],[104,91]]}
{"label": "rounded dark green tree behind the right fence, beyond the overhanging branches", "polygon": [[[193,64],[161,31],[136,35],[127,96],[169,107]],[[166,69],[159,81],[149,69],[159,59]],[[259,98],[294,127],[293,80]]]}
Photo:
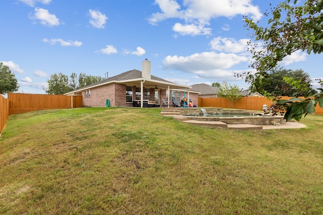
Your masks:
{"label": "rounded dark green tree behind the right fence, beyond the overhanging branches", "polygon": [[[264,84],[263,90],[275,96],[304,96],[304,93],[297,92],[293,87],[284,81],[284,77],[301,80],[300,83],[310,86],[311,79],[303,69],[286,69],[277,66],[268,71],[270,85]],[[297,94],[295,94],[297,92]]]}

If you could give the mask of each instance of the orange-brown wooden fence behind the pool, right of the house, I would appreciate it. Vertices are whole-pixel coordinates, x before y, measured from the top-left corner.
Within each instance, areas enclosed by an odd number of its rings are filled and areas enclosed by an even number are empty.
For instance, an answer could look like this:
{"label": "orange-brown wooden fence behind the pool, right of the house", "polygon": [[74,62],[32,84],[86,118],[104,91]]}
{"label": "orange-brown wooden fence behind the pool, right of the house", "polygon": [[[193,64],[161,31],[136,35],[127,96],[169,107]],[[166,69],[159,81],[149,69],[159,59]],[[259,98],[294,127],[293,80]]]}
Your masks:
{"label": "orange-brown wooden fence behind the pool, right of the house", "polygon": [[[290,99],[292,97],[283,96],[281,99]],[[225,98],[198,98],[198,105],[200,107],[219,107],[219,108],[234,108],[245,110],[262,110],[263,105],[269,108],[272,100],[267,100],[267,97],[242,97],[238,102],[231,102]],[[315,114],[323,114],[323,108],[317,104],[315,107]]]}

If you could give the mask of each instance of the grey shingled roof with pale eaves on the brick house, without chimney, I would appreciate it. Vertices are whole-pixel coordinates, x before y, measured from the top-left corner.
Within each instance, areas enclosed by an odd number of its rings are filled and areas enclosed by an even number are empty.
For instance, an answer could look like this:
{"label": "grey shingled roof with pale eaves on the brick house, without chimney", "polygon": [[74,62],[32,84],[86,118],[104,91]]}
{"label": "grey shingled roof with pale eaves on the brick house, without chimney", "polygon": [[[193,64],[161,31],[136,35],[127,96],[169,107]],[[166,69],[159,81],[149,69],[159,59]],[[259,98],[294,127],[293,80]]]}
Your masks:
{"label": "grey shingled roof with pale eaves on the brick house, without chimney", "polygon": [[170,89],[175,89],[175,88],[176,89],[190,89],[191,88],[191,87],[184,86],[184,85],[177,85],[175,83],[169,82],[165,79],[160,79],[160,78],[158,78],[156,76],[152,76],[152,75],[150,76],[150,79],[144,79],[144,78],[142,78],[141,71],[139,71],[137,69],[133,69],[133,70],[125,71],[124,73],[119,74],[117,76],[113,76],[111,78],[105,79],[103,81],[79,88],[75,91],[66,93],[64,95],[72,95],[74,93],[79,93],[79,92],[82,92],[87,89],[100,87],[100,86],[108,85],[108,84],[112,84],[112,83],[123,83],[123,84],[140,86],[141,81],[144,81],[145,87],[150,87],[150,88],[154,88],[156,86],[160,89],[168,89],[168,87]]}

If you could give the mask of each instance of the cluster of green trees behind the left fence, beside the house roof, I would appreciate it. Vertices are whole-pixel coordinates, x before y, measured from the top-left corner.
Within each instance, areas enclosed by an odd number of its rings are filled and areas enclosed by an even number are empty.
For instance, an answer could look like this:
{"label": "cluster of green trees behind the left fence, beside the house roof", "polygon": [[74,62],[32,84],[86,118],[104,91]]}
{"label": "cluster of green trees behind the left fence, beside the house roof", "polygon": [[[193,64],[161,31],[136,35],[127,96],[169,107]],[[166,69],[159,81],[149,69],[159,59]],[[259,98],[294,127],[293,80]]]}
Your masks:
{"label": "cluster of green trees behind the left fence, beside the house roof", "polygon": [[48,88],[43,87],[43,89],[47,94],[61,95],[102,80],[102,77],[83,73],[79,77],[76,73],[72,73],[70,77],[59,73],[51,75],[46,81]]}

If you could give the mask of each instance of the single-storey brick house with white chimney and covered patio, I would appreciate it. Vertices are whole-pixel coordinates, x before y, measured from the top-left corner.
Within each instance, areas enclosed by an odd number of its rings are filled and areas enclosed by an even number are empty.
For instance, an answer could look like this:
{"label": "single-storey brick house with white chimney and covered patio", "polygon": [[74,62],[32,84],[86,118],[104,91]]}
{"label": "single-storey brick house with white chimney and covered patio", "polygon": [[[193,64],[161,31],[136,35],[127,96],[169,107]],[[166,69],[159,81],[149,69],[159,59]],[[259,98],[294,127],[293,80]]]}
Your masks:
{"label": "single-storey brick house with white chimney and covered patio", "polygon": [[170,104],[184,97],[198,103],[198,92],[191,87],[178,85],[152,76],[150,61],[142,61],[142,71],[133,69],[103,81],[66,93],[67,96],[82,96],[83,107],[102,107],[109,99],[111,106],[161,107],[161,99]]}

